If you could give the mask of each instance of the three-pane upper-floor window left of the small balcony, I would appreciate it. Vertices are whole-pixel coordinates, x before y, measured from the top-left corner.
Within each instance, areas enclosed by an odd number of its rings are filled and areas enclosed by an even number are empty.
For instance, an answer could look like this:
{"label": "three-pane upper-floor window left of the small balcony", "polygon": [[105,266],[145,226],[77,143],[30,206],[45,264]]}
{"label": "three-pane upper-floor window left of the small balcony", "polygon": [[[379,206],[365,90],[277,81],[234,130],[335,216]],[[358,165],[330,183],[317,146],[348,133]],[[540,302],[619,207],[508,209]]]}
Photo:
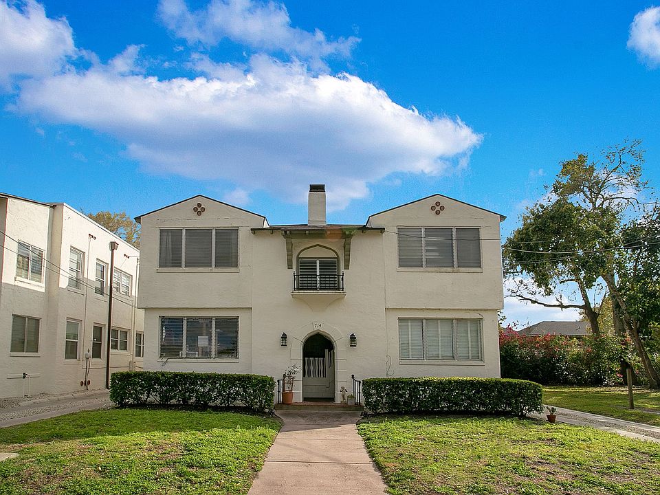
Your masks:
{"label": "three-pane upper-floor window left of the small balcony", "polygon": [[239,230],[161,229],[159,267],[238,268]]}

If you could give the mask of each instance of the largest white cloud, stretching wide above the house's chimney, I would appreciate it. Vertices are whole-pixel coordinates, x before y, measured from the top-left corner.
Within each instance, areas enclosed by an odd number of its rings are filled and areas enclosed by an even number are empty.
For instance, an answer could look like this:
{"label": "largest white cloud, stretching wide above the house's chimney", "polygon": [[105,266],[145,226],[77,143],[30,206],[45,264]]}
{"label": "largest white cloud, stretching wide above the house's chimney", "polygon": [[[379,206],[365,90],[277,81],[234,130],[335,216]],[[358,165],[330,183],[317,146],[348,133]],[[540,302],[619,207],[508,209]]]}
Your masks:
{"label": "largest white cloud, stretching wide above the house's chimney", "polygon": [[446,173],[481,141],[461,120],[427,118],[358,77],[312,75],[264,55],[230,80],[158,80],[115,66],[26,81],[17,108],[118,137],[161,173],[292,201],[325,182],[330,209],[390,173]]}

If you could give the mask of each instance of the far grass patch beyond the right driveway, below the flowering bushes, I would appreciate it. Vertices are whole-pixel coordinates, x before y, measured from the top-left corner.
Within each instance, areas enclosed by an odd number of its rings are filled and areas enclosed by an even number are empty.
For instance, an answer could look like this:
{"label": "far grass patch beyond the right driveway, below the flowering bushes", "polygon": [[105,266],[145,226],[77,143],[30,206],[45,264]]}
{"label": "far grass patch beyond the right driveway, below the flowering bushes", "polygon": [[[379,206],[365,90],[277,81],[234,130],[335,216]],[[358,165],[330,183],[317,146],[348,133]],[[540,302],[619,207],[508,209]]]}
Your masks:
{"label": "far grass patch beyond the right driveway, below the flowering bushes", "polygon": [[630,410],[626,387],[543,387],[544,404],[660,426],[660,391],[635,387],[634,397]]}

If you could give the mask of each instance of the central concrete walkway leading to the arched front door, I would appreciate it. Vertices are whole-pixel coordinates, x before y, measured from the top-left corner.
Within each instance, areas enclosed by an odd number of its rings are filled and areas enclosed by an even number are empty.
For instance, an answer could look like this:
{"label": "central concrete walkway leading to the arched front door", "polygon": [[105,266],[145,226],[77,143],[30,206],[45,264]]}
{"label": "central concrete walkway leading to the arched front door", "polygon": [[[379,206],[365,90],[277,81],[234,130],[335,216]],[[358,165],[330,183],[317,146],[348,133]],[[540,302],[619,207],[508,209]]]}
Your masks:
{"label": "central concrete walkway leading to the arched front door", "polygon": [[278,411],[284,421],[248,495],[382,495],[355,423],[360,412]]}

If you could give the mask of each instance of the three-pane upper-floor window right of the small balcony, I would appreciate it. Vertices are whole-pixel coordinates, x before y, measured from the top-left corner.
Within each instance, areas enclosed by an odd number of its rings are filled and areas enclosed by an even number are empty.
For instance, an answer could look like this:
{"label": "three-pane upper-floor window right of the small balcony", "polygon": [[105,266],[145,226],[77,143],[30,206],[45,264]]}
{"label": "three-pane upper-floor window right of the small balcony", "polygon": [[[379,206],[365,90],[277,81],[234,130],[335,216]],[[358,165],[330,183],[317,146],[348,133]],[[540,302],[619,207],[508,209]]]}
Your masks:
{"label": "three-pane upper-floor window right of the small balcony", "polygon": [[399,267],[481,267],[478,228],[399,227]]}

